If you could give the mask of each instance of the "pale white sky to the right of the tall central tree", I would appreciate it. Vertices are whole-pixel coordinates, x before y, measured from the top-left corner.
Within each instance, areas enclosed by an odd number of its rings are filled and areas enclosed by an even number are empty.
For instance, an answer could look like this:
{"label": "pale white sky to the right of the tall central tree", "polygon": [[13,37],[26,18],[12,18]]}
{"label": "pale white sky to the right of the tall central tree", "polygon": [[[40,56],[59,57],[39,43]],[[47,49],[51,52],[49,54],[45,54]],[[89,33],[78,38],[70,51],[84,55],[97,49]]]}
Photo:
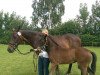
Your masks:
{"label": "pale white sky to the right of the tall central tree", "polygon": [[65,0],[65,14],[62,16],[62,22],[74,19],[77,15],[79,15],[80,3],[86,3],[88,11],[91,14],[91,7],[92,4],[95,4],[95,1],[96,0]]}

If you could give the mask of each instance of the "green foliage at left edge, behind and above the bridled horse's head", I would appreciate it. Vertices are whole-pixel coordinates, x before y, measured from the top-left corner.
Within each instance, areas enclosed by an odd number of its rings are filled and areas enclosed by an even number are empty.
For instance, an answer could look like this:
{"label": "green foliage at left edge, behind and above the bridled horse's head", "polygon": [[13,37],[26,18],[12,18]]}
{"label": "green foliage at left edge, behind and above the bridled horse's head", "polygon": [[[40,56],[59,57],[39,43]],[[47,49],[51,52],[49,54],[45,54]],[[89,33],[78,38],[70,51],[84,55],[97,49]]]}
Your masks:
{"label": "green foliage at left edge, behind and above the bridled horse's head", "polygon": [[12,14],[0,12],[0,43],[8,43],[10,40],[11,32],[13,28],[20,26],[22,29],[28,28],[28,21],[25,17],[17,16],[15,12]]}

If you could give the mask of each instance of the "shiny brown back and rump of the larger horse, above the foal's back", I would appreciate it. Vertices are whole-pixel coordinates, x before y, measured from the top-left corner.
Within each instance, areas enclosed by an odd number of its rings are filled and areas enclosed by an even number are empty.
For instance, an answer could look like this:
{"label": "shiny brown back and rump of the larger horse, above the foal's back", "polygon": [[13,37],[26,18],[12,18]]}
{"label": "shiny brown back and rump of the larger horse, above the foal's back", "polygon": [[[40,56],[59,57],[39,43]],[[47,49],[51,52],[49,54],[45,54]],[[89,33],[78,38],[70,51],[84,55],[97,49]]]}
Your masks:
{"label": "shiny brown back and rump of the larger horse, above the foal's back", "polygon": [[65,34],[62,36],[50,36],[60,47],[76,48],[81,47],[81,40],[74,34]]}

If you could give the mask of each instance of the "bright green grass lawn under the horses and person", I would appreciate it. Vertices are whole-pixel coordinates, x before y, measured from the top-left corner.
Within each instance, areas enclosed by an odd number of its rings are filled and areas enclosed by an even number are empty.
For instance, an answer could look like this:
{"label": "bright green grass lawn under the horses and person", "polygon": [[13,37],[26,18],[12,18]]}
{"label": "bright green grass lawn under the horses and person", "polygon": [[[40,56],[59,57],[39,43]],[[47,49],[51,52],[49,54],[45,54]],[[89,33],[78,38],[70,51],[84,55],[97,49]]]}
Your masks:
{"label": "bright green grass lawn under the horses and person", "polygon": [[[29,51],[31,47],[21,45],[19,49],[22,52]],[[100,47],[86,47],[97,54],[97,71],[96,75],[100,75]],[[61,75],[67,71],[68,65],[60,65]],[[28,55],[20,55],[17,52],[8,53],[7,45],[0,45],[0,75],[36,75],[33,66],[33,53]],[[71,75],[80,75],[77,64],[73,65]]]}

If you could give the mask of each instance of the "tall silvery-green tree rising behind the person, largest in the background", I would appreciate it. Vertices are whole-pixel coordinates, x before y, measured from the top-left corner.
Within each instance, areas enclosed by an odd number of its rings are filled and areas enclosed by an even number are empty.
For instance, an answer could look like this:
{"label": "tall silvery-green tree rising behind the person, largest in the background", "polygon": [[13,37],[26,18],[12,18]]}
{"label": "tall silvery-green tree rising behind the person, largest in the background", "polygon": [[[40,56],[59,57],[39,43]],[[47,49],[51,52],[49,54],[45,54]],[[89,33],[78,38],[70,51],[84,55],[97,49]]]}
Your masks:
{"label": "tall silvery-green tree rising behind the person, largest in the background", "polygon": [[53,28],[61,23],[64,14],[64,0],[33,0],[32,23],[35,27]]}

